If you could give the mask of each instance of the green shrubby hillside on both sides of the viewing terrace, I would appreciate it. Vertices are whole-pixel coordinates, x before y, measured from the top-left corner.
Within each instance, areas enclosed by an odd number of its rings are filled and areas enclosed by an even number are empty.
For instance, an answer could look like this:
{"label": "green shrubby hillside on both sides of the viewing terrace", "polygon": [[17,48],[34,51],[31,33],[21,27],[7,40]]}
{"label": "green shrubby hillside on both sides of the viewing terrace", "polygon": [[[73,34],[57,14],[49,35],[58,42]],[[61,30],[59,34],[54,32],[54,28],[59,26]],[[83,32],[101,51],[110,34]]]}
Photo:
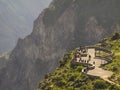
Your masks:
{"label": "green shrubby hillside on both sides of the viewing terrace", "polygon": [[[104,68],[114,72],[112,79],[117,79],[118,83],[120,80],[118,79],[120,77],[120,45],[118,45],[120,40],[118,38],[113,40],[113,37],[104,39],[107,45],[111,45],[110,49],[115,53],[114,61],[104,66]],[[107,83],[99,77],[83,74],[81,70],[84,66],[71,63],[74,54],[75,51],[65,54],[60,61],[59,68],[54,73],[46,75],[45,80],[39,84],[37,90],[120,90],[118,86]]]}

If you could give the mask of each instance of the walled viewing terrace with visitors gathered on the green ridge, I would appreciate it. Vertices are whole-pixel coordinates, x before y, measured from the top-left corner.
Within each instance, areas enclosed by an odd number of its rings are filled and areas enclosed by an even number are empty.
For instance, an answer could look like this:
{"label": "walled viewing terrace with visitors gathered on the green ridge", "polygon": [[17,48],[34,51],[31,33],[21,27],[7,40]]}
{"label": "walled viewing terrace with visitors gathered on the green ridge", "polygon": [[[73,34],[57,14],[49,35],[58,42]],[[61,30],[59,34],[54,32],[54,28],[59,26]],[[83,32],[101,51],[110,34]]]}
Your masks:
{"label": "walled viewing terrace with visitors gathered on the green ridge", "polygon": [[[106,53],[104,56],[98,53],[102,51]],[[82,69],[83,73],[87,73],[89,70],[96,69],[100,65],[105,65],[112,62],[113,52],[103,47],[97,46],[86,46],[76,49],[76,54],[73,57],[73,63],[78,65],[85,65],[86,67]],[[101,60],[101,64],[100,64]],[[104,63],[102,63],[102,60]]]}

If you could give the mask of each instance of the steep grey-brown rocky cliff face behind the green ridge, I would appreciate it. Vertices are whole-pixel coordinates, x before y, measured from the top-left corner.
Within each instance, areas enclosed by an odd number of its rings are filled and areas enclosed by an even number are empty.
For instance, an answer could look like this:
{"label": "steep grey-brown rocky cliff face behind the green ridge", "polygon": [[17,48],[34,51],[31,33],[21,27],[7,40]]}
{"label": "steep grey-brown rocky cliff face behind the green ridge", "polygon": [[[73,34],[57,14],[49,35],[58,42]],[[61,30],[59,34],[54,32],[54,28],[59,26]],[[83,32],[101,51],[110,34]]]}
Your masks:
{"label": "steep grey-brown rocky cliff face behind the green ridge", "polygon": [[119,0],[53,0],[31,35],[18,40],[0,71],[0,90],[35,90],[66,51],[120,31],[119,5]]}

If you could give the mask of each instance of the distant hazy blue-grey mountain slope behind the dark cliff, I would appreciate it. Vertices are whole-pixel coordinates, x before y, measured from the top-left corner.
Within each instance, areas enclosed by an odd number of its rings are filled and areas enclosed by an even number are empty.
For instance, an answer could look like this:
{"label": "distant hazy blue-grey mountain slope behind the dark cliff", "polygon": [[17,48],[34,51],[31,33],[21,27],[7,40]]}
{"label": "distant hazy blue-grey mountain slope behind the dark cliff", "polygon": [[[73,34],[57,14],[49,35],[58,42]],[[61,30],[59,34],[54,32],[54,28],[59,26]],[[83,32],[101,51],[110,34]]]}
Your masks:
{"label": "distant hazy blue-grey mountain slope behind the dark cliff", "polygon": [[0,54],[32,32],[33,21],[51,0],[0,0]]}

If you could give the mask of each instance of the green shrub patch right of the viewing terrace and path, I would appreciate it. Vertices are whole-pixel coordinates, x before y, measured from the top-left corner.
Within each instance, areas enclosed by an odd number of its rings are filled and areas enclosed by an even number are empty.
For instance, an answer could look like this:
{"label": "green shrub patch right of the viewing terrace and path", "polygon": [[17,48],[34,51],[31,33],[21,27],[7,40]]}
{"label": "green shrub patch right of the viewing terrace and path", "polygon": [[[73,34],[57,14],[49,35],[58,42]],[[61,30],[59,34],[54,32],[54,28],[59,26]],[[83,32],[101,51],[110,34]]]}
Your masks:
{"label": "green shrub patch right of the viewing terrace and path", "polygon": [[120,84],[120,33],[115,33],[112,37],[104,39],[105,47],[110,46],[109,49],[114,53],[113,62],[104,66],[104,69],[113,71],[110,78],[112,81]]}

